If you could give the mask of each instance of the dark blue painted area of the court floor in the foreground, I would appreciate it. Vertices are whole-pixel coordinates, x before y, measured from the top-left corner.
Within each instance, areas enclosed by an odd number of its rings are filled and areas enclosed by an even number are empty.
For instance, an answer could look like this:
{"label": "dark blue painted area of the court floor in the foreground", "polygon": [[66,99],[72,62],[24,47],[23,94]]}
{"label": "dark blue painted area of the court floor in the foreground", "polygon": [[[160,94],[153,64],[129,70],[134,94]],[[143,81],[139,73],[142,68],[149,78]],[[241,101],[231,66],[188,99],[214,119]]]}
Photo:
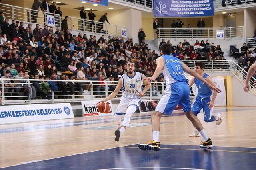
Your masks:
{"label": "dark blue painted area of the court floor in the foreground", "polygon": [[[89,147],[90,145],[88,145]],[[159,152],[138,149],[138,145],[99,150],[3,168],[13,169],[206,169],[252,170],[256,167],[256,148],[196,145],[160,145]]]}

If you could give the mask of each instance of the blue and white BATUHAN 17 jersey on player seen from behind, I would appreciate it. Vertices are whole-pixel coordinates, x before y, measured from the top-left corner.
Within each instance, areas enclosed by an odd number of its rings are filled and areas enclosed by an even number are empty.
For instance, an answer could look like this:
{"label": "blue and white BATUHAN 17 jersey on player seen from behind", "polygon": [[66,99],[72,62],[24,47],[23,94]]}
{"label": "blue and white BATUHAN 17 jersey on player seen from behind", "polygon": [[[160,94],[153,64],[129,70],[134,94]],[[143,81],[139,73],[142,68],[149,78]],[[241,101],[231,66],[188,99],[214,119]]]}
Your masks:
{"label": "blue and white BATUHAN 17 jersey on player seen from behind", "polygon": [[164,69],[162,71],[166,86],[175,82],[187,82],[183,72],[182,61],[171,55],[163,55]]}

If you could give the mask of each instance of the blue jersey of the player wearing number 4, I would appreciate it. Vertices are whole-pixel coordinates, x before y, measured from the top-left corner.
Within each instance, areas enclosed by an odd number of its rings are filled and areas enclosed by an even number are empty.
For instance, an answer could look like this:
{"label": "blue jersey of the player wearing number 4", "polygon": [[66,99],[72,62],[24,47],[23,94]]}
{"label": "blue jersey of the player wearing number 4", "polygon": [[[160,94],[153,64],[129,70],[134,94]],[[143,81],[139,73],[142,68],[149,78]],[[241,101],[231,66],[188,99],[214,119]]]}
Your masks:
{"label": "blue jersey of the player wearing number 4", "polygon": [[[206,79],[207,76],[209,76],[209,75],[204,73],[203,78]],[[195,78],[195,84],[196,84],[196,87],[198,88],[197,96],[199,96],[200,98],[209,98],[210,96],[212,96],[212,90],[210,88],[208,88],[208,86],[206,86],[206,84],[204,84],[197,78]]]}

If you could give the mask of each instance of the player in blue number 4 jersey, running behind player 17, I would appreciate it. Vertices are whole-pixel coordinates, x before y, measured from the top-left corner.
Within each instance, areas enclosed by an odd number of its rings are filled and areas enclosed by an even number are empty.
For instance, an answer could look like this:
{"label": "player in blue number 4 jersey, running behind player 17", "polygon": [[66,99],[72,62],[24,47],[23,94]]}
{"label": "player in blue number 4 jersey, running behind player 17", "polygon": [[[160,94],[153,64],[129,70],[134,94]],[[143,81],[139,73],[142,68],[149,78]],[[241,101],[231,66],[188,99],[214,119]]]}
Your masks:
{"label": "player in blue number 4 jersey, running behind player 17", "polygon": [[[206,81],[208,81],[212,86],[215,86],[214,82],[212,81],[212,78],[206,73],[204,73],[205,64],[204,62],[198,61],[195,64],[195,71],[198,73],[202,78],[204,78]],[[213,116],[213,107],[214,107],[214,101],[217,97],[218,92],[214,91],[212,96],[212,90],[208,88],[203,82],[198,80],[197,78],[192,78],[189,84],[189,87],[192,87],[193,84],[196,84],[196,87],[198,88],[198,94],[196,96],[196,101],[193,104],[192,111],[195,116],[197,116],[198,113],[203,109],[204,111],[204,121],[205,122],[212,122],[216,121],[216,125],[220,125],[222,122],[222,114],[218,114],[217,116]],[[212,96],[212,100],[211,97]],[[189,137],[199,137],[200,133],[195,128],[194,132],[189,135]]]}

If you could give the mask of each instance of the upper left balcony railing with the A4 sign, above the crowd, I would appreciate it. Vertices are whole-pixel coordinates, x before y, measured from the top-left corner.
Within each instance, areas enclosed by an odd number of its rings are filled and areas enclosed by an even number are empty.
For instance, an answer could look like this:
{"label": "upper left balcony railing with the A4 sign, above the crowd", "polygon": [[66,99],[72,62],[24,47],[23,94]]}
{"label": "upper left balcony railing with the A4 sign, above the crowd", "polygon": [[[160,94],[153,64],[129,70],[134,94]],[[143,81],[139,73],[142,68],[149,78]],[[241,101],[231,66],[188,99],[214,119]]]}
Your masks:
{"label": "upper left balcony railing with the A4 sign, above the crowd", "polygon": [[[32,25],[46,25],[47,15],[53,15],[52,13],[32,10],[29,8],[22,8],[19,6],[13,6],[9,4],[0,4],[0,9],[4,12],[6,18],[15,21],[23,21]],[[64,17],[60,17],[59,14],[54,14],[55,27],[61,28],[61,23]],[[121,36],[121,29],[125,28],[120,25],[106,24],[98,21],[84,20],[69,16],[68,29],[76,32],[92,32],[98,34],[107,34],[112,36]]]}

